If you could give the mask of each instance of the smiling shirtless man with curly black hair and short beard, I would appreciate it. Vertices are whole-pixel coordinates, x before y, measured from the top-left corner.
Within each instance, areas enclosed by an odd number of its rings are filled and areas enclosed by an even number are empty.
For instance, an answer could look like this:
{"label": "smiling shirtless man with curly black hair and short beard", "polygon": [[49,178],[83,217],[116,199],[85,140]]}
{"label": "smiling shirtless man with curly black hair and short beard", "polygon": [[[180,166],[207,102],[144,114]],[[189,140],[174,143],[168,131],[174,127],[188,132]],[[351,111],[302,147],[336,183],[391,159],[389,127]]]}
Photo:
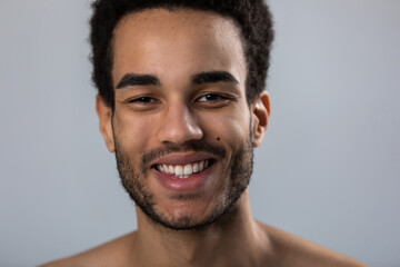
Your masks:
{"label": "smiling shirtless man with curly black hair and short beard", "polygon": [[270,115],[261,0],[93,3],[100,131],[138,230],[46,266],[363,266],[252,218]]}

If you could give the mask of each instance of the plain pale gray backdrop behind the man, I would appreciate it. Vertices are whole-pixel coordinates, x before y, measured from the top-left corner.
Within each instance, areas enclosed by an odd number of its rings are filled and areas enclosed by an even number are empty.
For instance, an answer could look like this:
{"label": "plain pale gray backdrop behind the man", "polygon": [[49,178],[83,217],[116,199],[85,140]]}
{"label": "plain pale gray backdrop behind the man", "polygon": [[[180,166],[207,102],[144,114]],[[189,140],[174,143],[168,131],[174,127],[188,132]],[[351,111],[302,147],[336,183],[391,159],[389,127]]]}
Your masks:
{"label": "plain pale gray backdrop behind the man", "polygon": [[[271,0],[272,117],[256,218],[400,266],[400,1]],[[98,132],[82,0],[0,0],[0,266],[136,228]]]}

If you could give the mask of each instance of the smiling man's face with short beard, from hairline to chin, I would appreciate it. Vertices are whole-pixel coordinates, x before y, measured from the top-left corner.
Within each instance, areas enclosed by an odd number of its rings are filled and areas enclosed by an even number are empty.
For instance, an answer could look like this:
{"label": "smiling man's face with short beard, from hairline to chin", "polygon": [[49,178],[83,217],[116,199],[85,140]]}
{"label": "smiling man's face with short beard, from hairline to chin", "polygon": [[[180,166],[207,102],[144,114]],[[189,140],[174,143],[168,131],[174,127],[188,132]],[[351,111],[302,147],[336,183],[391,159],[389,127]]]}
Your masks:
{"label": "smiling man's face with short beard, from hairline to chin", "polygon": [[116,106],[103,135],[123,186],[153,220],[207,225],[247,188],[246,73],[239,30],[218,14],[153,9],[116,27]]}

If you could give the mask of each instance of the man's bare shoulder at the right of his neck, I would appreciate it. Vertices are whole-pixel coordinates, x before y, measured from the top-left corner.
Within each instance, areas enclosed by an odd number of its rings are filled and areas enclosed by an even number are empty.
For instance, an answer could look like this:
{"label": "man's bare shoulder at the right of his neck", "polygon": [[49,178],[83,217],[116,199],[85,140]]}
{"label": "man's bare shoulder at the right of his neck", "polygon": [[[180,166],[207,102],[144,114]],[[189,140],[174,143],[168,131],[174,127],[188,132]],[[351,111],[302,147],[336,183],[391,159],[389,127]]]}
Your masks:
{"label": "man's bare shoulder at the right of his neck", "polygon": [[367,265],[331,249],[259,222],[267,233],[279,266],[366,267]]}

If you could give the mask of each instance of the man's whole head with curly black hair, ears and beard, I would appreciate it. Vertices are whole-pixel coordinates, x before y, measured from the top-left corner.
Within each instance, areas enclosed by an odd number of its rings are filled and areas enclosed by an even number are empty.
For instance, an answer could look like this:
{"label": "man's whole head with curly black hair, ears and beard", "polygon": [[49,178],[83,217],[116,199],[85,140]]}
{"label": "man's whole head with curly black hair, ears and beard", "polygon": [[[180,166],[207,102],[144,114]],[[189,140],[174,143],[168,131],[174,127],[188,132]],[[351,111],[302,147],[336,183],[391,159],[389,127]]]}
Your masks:
{"label": "man's whole head with curly black hair, ears and beard", "polygon": [[268,125],[262,1],[93,3],[97,111],[122,184],[153,221],[202,227],[246,190]]}

